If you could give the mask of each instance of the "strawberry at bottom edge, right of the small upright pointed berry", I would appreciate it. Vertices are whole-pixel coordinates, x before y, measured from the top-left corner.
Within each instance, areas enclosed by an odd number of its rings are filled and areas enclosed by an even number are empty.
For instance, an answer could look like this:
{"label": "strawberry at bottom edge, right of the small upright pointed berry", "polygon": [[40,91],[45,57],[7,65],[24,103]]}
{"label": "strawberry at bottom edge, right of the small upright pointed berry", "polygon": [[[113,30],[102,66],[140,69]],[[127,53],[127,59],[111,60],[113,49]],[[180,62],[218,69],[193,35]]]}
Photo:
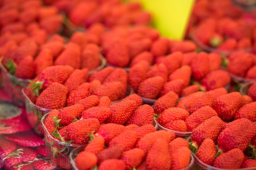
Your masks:
{"label": "strawberry at bottom edge, right of the small upright pointed berry", "polygon": [[224,169],[239,169],[243,163],[244,157],[245,155],[241,149],[234,148],[216,157],[213,166]]}

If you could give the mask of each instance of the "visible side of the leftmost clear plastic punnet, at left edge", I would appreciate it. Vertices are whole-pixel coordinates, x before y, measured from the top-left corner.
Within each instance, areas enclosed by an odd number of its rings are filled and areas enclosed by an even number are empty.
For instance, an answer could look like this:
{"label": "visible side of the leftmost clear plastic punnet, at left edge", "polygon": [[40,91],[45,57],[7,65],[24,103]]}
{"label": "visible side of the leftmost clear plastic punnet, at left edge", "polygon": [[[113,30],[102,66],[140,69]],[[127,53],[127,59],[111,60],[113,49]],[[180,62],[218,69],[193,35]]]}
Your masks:
{"label": "visible side of the leftmost clear plastic punnet, at left edge", "polygon": [[9,100],[17,106],[25,106],[22,88],[29,84],[29,79],[17,78],[11,75],[2,65],[2,60],[0,60],[0,69],[2,88]]}

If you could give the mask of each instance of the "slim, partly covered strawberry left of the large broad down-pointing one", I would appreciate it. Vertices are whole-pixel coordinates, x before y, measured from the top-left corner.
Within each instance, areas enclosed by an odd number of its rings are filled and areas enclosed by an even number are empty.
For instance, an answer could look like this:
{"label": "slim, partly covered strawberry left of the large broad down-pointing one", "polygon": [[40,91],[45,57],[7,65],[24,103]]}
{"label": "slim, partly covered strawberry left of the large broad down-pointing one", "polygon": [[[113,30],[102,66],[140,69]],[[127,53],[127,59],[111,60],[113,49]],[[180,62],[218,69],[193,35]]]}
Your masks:
{"label": "slim, partly covered strawberry left of the large broad down-pointing one", "polygon": [[195,92],[195,93],[189,94],[188,96],[185,96],[184,98],[180,99],[176,107],[186,109],[188,112],[190,112],[191,105],[203,94],[204,92]]}

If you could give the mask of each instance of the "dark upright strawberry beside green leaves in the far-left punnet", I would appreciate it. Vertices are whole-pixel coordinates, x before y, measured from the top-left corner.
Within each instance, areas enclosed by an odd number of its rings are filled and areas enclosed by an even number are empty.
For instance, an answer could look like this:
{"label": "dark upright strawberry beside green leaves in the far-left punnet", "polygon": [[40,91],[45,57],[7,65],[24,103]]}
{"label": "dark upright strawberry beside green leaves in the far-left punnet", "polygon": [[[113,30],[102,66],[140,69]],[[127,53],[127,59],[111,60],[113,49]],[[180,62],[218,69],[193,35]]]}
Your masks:
{"label": "dark upright strawberry beside green leaves in the far-left punnet", "polygon": [[15,70],[15,76],[18,78],[31,79],[36,74],[36,65],[31,55],[24,57]]}

